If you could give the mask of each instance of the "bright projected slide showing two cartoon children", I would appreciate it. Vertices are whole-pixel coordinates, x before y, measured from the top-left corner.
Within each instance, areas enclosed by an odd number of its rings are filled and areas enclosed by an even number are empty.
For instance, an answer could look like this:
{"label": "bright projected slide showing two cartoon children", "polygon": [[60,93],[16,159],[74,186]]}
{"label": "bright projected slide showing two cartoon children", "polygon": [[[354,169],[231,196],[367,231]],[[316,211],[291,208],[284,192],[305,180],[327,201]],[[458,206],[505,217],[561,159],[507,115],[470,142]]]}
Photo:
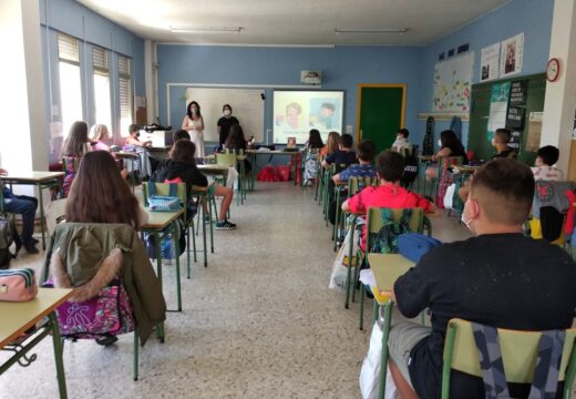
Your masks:
{"label": "bright projected slide showing two cartoon children", "polygon": [[305,144],[310,129],[318,129],[323,140],[328,133],[342,131],[343,92],[275,91],[274,142],[296,137]]}

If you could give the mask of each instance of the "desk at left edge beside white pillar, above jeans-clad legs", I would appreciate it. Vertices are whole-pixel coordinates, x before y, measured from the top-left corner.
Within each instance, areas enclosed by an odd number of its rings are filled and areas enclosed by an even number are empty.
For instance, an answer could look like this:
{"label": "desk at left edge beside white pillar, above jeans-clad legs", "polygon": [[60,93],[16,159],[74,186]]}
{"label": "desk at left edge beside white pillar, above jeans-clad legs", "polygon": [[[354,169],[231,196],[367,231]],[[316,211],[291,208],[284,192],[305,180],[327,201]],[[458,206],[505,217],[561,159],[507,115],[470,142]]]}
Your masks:
{"label": "desk at left edge beside white pillar, above jeans-clad legs", "polygon": [[[27,173],[9,174],[8,176],[1,176],[0,180],[4,184],[9,184],[10,188],[12,185],[35,185],[38,187],[38,206],[40,208],[40,226],[42,229],[42,249],[45,250],[45,219],[44,219],[44,198],[42,191],[44,188],[52,188],[59,186],[62,188],[64,178],[64,172],[37,172],[31,171]],[[3,211],[3,193],[0,194],[0,209]]]}

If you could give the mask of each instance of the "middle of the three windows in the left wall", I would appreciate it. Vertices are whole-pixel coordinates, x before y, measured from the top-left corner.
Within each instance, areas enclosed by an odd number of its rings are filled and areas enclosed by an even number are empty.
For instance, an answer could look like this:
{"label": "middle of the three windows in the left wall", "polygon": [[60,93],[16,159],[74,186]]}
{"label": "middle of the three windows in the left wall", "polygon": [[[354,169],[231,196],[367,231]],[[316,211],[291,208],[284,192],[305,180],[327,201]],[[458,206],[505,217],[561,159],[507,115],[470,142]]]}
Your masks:
{"label": "middle of the three windows in the left wall", "polygon": [[92,48],[92,66],[94,70],[94,104],[96,123],[105,124],[109,131],[114,131],[112,124],[112,105],[110,101],[110,70],[106,50]]}

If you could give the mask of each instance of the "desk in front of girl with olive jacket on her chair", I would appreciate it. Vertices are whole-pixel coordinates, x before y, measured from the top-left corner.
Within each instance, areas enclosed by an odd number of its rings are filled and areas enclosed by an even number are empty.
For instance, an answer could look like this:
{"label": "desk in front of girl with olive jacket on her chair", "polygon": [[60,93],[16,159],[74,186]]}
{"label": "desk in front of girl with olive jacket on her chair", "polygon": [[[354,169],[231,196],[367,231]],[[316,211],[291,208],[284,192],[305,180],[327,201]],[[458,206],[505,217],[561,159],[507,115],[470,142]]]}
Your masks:
{"label": "desk in front of girl with olive jacket on her chair", "polygon": [[[158,282],[162,287],[162,246],[161,241],[165,236],[172,233],[172,239],[174,242],[176,260],[176,296],[178,301],[177,311],[182,311],[182,291],[181,291],[181,275],[179,275],[179,245],[178,236],[181,234],[179,226],[177,223],[178,217],[184,214],[184,209],[176,212],[152,212],[150,208],[144,208],[148,215],[148,221],[141,227],[142,232],[148,232],[154,235],[154,244],[156,250],[156,273],[158,275]],[[163,340],[164,329],[158,328],[158,338]]]}

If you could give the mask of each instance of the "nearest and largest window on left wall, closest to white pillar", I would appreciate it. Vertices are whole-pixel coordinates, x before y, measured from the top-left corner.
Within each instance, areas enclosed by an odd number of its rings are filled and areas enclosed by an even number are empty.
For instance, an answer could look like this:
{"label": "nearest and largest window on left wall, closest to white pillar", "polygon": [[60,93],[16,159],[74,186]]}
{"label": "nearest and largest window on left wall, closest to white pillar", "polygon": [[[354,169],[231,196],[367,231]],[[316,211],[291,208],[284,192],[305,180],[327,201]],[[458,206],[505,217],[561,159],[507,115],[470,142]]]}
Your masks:
{"label": "nearest and largest window on left wall, closest to white pillar", "polygon": [[82,121],[82,89],[80,81],[80,48],[78,40],[58,34],[60,72],[60,106],[64,137],[75,121]]}

